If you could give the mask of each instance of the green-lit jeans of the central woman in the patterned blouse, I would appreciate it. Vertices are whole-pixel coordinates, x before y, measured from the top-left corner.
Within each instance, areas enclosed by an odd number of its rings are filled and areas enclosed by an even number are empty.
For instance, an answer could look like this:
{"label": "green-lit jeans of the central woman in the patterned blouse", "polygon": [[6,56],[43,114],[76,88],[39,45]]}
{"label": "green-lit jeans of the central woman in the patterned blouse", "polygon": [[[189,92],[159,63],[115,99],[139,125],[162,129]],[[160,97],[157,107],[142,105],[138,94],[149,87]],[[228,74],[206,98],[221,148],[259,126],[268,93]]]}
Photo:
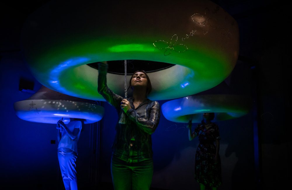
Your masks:
{"label": "green-lit jeans of the central woman in the patterned blouse", "polygon": [[153,176],[153,159],[138,162],[135,141],[131,141],[130,157],[123,160],[112,154],[112,182],[115,190],[149,190]]}

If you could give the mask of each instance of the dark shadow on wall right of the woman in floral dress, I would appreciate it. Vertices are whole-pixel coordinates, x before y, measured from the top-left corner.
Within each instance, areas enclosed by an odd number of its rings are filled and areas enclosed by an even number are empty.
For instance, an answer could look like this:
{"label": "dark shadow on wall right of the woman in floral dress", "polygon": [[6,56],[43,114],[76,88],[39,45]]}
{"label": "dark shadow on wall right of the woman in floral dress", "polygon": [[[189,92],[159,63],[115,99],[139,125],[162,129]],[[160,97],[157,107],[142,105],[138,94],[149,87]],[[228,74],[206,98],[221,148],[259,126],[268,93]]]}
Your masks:
{"label": "dark shadow on wall right of the woman in floral dress", "polygon": [[[225,131],[228,146],[225,156],[228,158],[233,152],[237,162],[232,171],[232,189],[253,189],[255,187],[253,125],[251,114],[244,117],[227,121],[230,125]],[[246,125],[248,124],[249,125]],[[236,124],[236,125],[234,125]]]}

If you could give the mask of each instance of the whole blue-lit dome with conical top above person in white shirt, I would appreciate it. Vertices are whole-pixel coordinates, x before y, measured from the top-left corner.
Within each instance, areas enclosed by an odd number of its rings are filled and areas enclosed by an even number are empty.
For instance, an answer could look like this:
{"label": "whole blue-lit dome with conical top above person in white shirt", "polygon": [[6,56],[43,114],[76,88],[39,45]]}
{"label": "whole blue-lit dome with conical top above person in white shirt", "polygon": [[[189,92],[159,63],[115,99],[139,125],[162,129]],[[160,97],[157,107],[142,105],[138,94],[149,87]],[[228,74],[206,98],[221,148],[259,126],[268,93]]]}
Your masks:
{"label": "whole blue-lit dome with conical top above person in white shirt", "polygon": [[30,98],[14,103],[16,115],[23,120],[56,124],[63,118],[84,119],[84,123],[94,123],[102,119],[104,108],[97,101],[68,96],[42,86]]}

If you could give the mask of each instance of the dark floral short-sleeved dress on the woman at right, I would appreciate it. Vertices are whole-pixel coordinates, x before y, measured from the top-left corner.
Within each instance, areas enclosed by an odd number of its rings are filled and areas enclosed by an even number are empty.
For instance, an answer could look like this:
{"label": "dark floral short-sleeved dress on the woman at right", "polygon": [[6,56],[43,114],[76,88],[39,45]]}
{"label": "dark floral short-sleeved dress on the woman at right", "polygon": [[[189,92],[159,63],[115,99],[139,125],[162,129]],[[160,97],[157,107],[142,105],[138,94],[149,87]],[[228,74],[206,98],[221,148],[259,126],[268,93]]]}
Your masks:
{"label": "dark floral short-sleeved dress on the woman at right", "polygon": [[214,142],[220,140],[219,128],[214,123],[208,129],[204,124],[198,124],[194,133],[200,142],[196,152],[195,179],[205,186],[219,187],[222,184],[220,156],[217,163],[214,162],[216,154]]}

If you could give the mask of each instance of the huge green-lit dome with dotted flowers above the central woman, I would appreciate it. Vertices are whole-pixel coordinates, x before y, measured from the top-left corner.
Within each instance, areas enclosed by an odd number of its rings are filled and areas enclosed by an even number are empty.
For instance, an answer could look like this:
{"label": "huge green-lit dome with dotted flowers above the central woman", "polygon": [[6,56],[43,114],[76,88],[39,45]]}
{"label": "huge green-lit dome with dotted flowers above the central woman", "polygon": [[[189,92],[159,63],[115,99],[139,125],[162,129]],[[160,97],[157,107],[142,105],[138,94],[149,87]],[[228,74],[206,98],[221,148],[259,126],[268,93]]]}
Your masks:
{"label": "huge green-lit dome with dotted flowers above the central woman", "polygon": [[[239,52],[237,22],[211,1],[50,1],[32,13],[22,30],[22,50],[44,86],[91,100],[98,71],[86,64],[148,60],[176,64],[149,73],[152,100],[189,96],[222,82]],[[147,70],[147,69],[145,69]],[[107,75],[123,96],[122,75]]]}

